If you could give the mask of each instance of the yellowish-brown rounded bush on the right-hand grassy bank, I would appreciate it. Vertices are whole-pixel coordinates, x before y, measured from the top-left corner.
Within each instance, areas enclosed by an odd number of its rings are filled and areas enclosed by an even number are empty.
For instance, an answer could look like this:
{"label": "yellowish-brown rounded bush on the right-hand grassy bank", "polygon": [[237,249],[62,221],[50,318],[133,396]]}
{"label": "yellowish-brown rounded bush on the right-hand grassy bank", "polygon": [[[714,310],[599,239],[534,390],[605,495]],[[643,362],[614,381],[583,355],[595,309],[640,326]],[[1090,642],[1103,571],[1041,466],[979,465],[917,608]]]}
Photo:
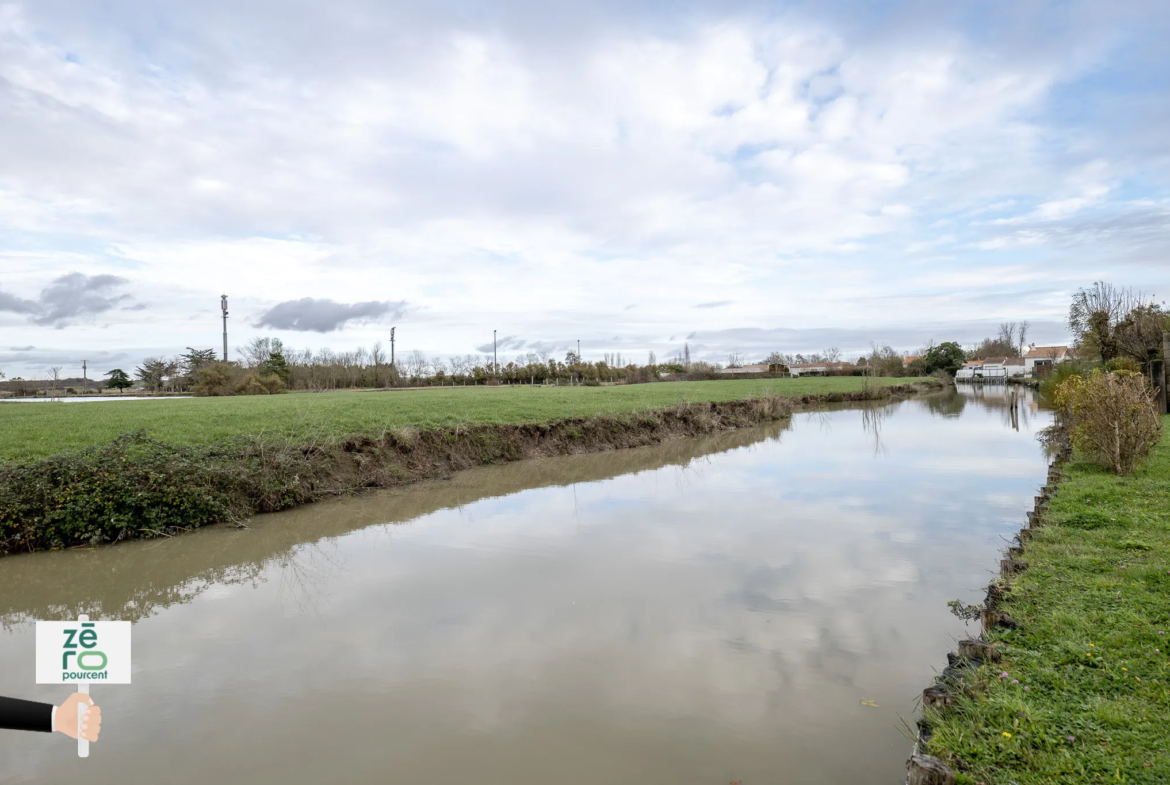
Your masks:
{"label": "yellowish-brown rounded bush on the right-hand grassy bank", "polygon": [[1069,377],[1053,402],[1068,418],[1073,447],[1119,475],[1131,473],[1162,438],[1162,418],[1141,376]]}

